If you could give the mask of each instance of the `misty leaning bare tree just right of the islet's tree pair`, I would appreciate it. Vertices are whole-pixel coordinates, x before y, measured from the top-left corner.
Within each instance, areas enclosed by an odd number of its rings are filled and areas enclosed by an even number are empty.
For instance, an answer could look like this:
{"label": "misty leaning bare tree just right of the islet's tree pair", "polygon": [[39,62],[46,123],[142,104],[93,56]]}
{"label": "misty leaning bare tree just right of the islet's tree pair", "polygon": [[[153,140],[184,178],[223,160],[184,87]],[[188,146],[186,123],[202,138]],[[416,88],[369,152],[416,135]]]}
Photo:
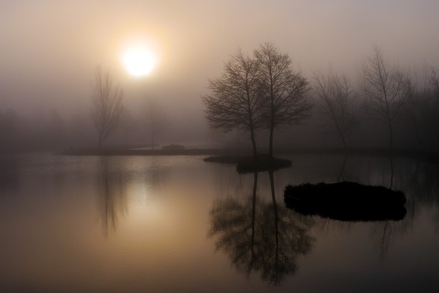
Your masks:
{"label": "misty leaning bare tree just right of the islet's tree pair", "polygon": [[324,117],[331,121],[331,128],[342,140],[344,148],[348,148],[346,134],[357,124],[352,108],[355,102],[353,85],[344,73],[328,71],[313,73],[311,88],[316,94],[316,104]]}

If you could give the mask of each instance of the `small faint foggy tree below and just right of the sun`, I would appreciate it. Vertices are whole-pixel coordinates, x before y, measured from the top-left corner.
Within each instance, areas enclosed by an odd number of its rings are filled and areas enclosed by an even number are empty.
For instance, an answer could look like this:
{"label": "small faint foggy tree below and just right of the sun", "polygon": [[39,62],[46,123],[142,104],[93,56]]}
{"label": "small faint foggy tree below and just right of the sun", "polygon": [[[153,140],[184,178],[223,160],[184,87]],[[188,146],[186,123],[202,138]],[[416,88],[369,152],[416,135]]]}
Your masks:
{"label": "small faint foggy tree below and just right of the sun", "polygon": [[145,119],[150,130],[151,146],[154,150],[154,137],[163,132],[169,124],[169,120],[163,109],[163,104],[158,99],[148,98],[145,104]]}

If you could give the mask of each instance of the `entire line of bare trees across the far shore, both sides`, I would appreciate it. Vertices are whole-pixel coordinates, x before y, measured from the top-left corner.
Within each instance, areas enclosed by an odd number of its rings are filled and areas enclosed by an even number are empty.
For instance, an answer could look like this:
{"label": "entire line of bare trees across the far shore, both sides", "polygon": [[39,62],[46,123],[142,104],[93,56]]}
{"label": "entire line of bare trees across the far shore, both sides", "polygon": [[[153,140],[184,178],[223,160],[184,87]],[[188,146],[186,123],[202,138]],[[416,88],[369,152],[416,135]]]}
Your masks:
{"label": "entire line of bare trees across the far shore, both sides", "polygon": [[[294,69],[292,58],[273,43],[260,45],[251,55],[238,49],[224,63],[222,74],[208,80],[209,93],[201,96],[204,114],[211,128],[247,132],[254,156],[258,155],[259,131],[268,132],[272,156],[274,130],[309,124],[311,119],[322,123],[310,132],[331,134],[344,148],[350,148],[352,137],[361,136],[366,126],[374,134],[383,128],[390,150],[402,132],[410,132],[411,148],[437,150],[438,69],[425,66],[420,72],[403,70],[388,62],[376,45],[360,68],[355,81],[332,69],[315,71],[305,78]],[[157,99],[146,99],[141,108],[142,117],[134,117],[123,106],[121,86],[110,71],[98,67],[88,117],[80,114],[69,120],[52,108],[39,115],[40,121],[35,123],[15,110],[0,109],[0,152],[69,148],[78,141],[89,144],[92,134],[88,121],[97,132],[98,148],[115,132],[123,133],[127,145],[129,134],[145,132],[154,146],[169,119]]]}

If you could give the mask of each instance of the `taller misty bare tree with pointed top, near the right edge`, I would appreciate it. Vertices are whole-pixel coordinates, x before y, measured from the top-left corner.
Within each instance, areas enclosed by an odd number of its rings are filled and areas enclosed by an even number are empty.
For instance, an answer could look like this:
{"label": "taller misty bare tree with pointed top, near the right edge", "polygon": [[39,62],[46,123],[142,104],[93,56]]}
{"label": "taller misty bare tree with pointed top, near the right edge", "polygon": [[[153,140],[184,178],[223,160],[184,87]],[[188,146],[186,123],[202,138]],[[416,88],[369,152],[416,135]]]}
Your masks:
{"label": "taller misty bare tree with pointed top, near the right edge", "polygon": [[389,146],[392,150],[392,123],[407,99],[410,80],[403,71],[384,60],[377,45],[374,45],[373,50],[374,54],[363,67],[361,90],[370,110],[388,126]]}

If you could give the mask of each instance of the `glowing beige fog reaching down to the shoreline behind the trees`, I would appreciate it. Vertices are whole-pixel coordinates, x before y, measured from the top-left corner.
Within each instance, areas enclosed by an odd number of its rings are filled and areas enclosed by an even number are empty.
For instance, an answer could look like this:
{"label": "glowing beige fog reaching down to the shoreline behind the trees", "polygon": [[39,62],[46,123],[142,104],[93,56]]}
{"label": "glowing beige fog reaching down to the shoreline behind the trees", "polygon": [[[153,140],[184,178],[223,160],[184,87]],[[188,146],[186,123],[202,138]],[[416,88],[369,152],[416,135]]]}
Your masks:
{"label": "glowing beige fog reaching down to the shoreline behind the trees", "polygon": [[[359,67],[377,44],[389,62],[421,72],[425,66],[439,68],[438,11],[436,0],[2,1],[1,143],[21,150],[95,147],[91,83],[102,66],[121,85],[124,106],[139,120],[128,139],[119,129],[107,145],[148,143],[142,120],[148,97],[161,101],[169,118],[158,144],[248,145],[247,134],[209,130],[200,100],[208,93],[208,79],[222,73],[238,47],[251,54],[270,41],[307,78],[331,67],[357,82]],[[158,64],[150,75],[135,78],[123,68],[121,50],[132,39],[156,50]],[[356,111],[365,119],[350,145],[385,146],[385,128],[361,103]],[[14,131],[7,121],[14,121]],[[276,145],[340,146],[337,137],[322,134],[318,115],[304,124],[276,132]],[[407,121],[401,117],[396,124],[396,145],[417,148]],[[261,145],[266,136],[258,132]]]}

